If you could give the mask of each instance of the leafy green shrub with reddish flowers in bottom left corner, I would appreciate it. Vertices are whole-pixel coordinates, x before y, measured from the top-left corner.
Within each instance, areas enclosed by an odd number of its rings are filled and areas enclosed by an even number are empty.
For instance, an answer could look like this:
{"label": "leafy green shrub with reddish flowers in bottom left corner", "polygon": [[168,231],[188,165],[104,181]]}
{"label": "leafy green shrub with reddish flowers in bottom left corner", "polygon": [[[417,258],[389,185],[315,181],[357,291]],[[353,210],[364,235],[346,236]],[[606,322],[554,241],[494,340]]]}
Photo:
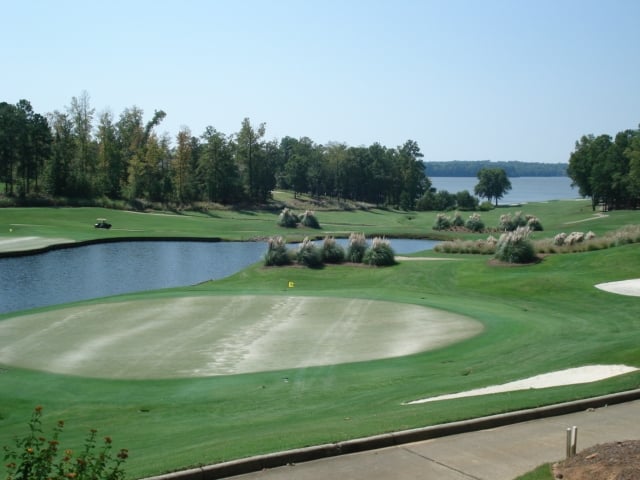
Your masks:
{"label": "leafy green shrub with reddish flowers in bottom left corner", "polygon": [[84,449],[75,453],[63,450],[59,437],[64,422],[58,421],[50,439],[42,429],[42,407],[36,407],[29,421],[29,434],[18,438],[15,448],[4,447],[7,480],[123,480],[122,465],[129,457],[126,449],[113,454],[111,437],[98,445],[98,432],[91,430]]}

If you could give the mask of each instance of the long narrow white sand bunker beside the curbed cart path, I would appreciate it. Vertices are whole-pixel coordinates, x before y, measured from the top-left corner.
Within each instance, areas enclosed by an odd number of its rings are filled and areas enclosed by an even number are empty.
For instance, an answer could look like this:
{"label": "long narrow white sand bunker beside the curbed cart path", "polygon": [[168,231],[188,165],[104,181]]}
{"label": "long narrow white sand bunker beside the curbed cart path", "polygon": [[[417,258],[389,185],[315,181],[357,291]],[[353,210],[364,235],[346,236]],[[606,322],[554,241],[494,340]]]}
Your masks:
{"label": "long narrow white sand bunker beside the curbed cart path", "polygon": [[462,397],[475,397],[491,393],[514,392],[517,390],[529,390],[532,388],[562,387],[578,383],[591,383],[615,377],[617,375],[635,372],[637,370],[638,368],[629,367],[627,365],[589,365],[586,367],[569,368],[567,370],[536,375],[535,377],[516,380],[515,382],[504,383],[502,385],[492,385],[490,387],[477,388],[466,392],[423,398],[421,400],[408,402],[407,404],[413,405],[416,403],[436,402],[438,400],[450,400]]}

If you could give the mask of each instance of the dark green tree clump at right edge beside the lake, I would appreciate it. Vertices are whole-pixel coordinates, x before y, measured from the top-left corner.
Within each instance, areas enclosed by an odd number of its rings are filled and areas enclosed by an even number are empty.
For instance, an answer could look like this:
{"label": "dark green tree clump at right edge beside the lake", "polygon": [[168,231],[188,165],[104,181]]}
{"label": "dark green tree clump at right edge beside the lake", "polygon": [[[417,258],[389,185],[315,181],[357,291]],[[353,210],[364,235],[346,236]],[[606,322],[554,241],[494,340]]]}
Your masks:
{"label": "dark green tree clump at right edge beside the lake", "polygon": [[580,195],[609,209],[640,207],[640,126],[609,135],[584,135],[569,157],[567,173]]}

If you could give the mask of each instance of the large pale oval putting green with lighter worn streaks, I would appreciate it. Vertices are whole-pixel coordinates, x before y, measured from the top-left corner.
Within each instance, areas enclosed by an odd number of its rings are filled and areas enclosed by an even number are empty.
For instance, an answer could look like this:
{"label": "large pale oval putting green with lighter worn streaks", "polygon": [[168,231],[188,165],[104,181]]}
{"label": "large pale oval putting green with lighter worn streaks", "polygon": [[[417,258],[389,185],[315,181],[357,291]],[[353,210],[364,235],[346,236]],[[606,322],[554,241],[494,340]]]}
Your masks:
{"label": "large pale oval putting green with lighter worn streaks", "polygon": [[477,335],[418,305],[293,296],[94,304],[0,322],[0,364],[98,378],[230,375],[409,355]]}

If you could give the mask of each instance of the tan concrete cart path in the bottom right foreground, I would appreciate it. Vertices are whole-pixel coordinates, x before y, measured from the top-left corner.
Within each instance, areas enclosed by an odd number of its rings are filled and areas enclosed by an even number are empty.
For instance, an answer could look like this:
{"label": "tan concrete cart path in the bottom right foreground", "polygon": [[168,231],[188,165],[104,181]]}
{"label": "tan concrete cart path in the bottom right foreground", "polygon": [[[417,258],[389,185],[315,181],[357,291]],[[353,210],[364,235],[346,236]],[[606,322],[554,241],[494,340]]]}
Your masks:
{"label": "tan concrete cart path in the bottom right foreground", "polygon": [[513,480],[577,450],[640,439],[640,400],[237,475],[234,480]]}

